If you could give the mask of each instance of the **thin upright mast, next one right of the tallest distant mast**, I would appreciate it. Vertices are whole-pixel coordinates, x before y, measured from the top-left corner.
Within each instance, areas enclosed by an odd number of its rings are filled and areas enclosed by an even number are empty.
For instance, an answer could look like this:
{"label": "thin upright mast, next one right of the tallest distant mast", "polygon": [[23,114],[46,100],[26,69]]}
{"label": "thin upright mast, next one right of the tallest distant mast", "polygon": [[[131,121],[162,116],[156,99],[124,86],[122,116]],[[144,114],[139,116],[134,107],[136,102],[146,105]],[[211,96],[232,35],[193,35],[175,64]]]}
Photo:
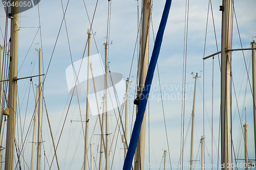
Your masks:
{"label": "thin upright mast, next one right of the tallest distant mast", "polygon": [[105,158],[106,158],[106,167],[105,170],[109,170],[109,44],[106,42],[105,44],[105,116],[106,116],[106,149],[105,149]]}

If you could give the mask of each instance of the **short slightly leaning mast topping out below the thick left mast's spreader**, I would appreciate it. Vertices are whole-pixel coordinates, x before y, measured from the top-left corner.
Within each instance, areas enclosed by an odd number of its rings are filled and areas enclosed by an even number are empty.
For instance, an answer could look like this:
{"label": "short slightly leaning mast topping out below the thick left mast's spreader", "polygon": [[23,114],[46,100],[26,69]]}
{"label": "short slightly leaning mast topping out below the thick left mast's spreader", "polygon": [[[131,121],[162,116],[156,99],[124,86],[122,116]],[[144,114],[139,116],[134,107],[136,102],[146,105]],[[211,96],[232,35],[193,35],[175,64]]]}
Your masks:
{"label": "short slightly leaning mast topping out below the thick left mast's spreader", "polygon": [[36,136],[36,122],[38,117],[38,95],[39,95],[39,86],[36,87],[36,101],[35,101],[35,111],[34,111],[34,127],[33,127],[33,141],[32,141],[32,154],[31,154],[31,166],[30,169],[33,170],[34,168],[34,155],[35,155],[35,136]]}

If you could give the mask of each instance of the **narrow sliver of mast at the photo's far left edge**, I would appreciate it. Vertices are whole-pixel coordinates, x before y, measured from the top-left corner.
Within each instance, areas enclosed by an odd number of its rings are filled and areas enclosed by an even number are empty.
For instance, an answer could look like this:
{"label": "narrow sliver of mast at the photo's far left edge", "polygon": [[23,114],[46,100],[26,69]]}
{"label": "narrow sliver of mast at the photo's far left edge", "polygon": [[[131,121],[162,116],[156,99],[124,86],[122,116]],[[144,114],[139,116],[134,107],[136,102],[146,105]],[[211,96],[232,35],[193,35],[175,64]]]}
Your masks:
{"label": "narrow sliver of mast at the photo's far left edge", "polygon": [[[0,45],[0,81],[3,80],[3,46]],[[3,141],[3,133],[4,133],[4,115],[3,115],[3,108],[4,108],[4,103],[3,103],[3,82],[0,82],[0,121],[1,121],[1,133],[0,133],[0,170],[2,169],[2,157],[3,157],[3,152],[2,152],[2,141]]]}

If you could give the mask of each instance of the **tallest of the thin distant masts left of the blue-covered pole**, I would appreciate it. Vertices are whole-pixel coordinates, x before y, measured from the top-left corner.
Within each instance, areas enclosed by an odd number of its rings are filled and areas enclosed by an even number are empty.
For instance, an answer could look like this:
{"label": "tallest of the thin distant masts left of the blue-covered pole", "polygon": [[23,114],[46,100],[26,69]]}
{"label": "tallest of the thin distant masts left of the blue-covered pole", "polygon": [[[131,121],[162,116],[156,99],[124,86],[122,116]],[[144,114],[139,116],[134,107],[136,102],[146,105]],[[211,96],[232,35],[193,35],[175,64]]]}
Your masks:
{"label": "tallest of the thin distant masts left of the blue-covered pole", "polygon": [[88,131],[89,131],[89,92],[90,92],[90,65],[91,65],[91,34],[88,30],[88,68],[87,68],[87,100],[86,100],[86,139],[84,141],[84,164],[83,169],[87,169],[88,158]]}

